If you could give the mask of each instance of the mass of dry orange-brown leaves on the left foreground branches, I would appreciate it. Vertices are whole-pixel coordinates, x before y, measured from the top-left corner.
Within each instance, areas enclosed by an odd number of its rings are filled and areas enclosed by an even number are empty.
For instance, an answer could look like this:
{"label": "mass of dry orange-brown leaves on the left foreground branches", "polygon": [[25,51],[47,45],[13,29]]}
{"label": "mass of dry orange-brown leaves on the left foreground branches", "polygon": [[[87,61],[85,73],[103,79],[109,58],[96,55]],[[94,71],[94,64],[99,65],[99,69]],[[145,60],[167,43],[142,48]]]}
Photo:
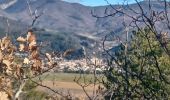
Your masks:
{"label": "mass of dry orange-brown leaves on the left foreground branches", "polygon": [[[19,43],[18,48],[12,44],[9,37],[0,39],[0,88],[2,89],[0,99],[2,100],[8,100],[7,98],[13,95],[11,79],[23,80],[26,75],[42,73],[42,66],[48,65],[50,69],[51,66],[56,65],[49,53],[44,55],[48,59],[44,65],[36,36],[32,31],[29,31],[26,37],[18,37],[17,42]],[[22,54],[26,55],[23,57]],[[2,75],[5,77],[2,78]]]}

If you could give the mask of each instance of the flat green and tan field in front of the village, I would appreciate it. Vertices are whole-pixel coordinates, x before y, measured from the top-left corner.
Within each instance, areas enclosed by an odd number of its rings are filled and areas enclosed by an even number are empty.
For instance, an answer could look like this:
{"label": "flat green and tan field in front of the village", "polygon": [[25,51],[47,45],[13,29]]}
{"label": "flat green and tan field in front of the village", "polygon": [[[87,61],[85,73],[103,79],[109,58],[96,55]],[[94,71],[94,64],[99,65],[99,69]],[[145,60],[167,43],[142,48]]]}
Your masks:
{"label": "flat green and tan field in front of the village", "polygon": [[[86,82],[93,80],[93,74],[85,74]],[[43,85],[49,86],[52,89],[62,91],[64,93],[70,93],[74,97],[85,98],[86,95],[83,92],[83,89],[74,82],[74,79],[80,77],[80,74],[73,73],[47,73],[41,77],[43,80]],[[99,77],[99,76],[98,76]],[[84,84],[83,77],[79,81],[81,84]],[[96,85],[97,88],[98,85]],[[93,84],[86,87],[88,94],[93,94]],[[52,93],[50,90],[42,87],[37,87],[37,90],[45,91],[47,93]]]}

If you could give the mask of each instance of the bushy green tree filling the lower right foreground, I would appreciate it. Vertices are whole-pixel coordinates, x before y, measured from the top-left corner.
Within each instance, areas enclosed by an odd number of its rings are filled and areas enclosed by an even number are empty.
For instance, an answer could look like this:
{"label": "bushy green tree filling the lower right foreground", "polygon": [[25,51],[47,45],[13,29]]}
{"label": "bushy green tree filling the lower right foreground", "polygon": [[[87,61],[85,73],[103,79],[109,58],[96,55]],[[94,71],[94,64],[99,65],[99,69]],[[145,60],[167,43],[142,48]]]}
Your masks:
{"label": "bushy green tree filling the lower right foreground", "polygon": [[127,49],[122,44],[115,52],[116,65],[106,71],[104,84],[112,91],[106,99],[169,98],[170,56],[164,49],[169,44],[162,45],[163,39],[147,28],[133,32]]}

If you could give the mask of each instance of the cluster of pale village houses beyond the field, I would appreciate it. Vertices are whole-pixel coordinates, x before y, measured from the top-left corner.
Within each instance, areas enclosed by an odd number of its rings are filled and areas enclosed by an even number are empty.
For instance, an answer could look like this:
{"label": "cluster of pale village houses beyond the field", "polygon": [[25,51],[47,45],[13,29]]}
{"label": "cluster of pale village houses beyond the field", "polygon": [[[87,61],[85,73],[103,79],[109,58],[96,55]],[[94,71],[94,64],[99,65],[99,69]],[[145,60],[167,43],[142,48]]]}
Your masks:
{"label": "cluster of pale village houses beyond the field", "polygon": [[71,73],[93,73],[94,71],[100,73],[106,70],[106,64],[102,59],[95,57],[91,59],[82,58],[79,60],[58,60],[58,65],[53,70]]}

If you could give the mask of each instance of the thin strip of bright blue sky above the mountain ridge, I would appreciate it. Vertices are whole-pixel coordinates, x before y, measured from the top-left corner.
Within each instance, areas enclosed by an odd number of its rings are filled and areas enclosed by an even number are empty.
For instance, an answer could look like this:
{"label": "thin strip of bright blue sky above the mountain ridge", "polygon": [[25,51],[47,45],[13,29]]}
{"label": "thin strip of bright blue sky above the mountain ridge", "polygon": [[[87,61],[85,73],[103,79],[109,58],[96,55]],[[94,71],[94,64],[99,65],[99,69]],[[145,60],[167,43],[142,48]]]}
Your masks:
{"label": "thin strip of bright blue sky above the mountain ridge", "polygon": [[[65,0],[68,2],[78,2],[80,4],[86,5],[86,6],[102,6],[102,5],[108,5],[105,0]],[[107,0],[111,4],[122,4],[123,1],[128,4],[134,3],[135,0]]]}

